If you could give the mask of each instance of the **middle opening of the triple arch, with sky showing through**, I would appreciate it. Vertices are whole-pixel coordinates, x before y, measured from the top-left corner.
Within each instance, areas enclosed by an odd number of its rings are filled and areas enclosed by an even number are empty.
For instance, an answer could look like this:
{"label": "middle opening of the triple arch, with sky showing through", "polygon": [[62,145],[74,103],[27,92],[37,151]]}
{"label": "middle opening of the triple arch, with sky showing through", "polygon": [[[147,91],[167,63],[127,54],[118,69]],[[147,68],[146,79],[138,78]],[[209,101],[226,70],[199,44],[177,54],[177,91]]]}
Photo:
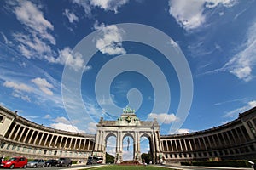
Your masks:
{"label": "middle opening of the triple arch, with sky showing through", "polygon": [[123,161],[134,160],[134,139],[130,134],[125,135],[123,139]]}

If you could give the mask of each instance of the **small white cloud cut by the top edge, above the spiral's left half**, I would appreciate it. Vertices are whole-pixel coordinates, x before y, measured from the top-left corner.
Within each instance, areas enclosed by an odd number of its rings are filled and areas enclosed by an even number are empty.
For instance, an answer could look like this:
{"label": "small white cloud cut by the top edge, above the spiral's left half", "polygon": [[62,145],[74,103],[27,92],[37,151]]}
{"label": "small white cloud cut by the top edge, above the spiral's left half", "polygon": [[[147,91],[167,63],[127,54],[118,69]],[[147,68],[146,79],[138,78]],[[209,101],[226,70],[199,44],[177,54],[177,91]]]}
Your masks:
{"label": "small white cloud cut by the top edge, above the spiral's left half", "polygon": [[90,4],[95,7],[102,8],[106,11],[112,10],[114,13],[118,13],[118,8],[128,3],[129,0],[91,0]]}

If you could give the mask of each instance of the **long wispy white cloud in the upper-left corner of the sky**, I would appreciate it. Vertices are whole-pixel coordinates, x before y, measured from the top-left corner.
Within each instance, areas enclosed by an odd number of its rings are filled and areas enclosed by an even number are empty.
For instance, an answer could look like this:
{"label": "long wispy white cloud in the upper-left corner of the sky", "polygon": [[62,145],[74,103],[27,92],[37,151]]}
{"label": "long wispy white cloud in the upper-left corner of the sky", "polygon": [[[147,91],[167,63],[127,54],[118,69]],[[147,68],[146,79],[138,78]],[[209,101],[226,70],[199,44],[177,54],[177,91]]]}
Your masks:
{"label": "long wispy white cloud in the upper-left corner of the sky", "polygon": [[29,33],[15,32],[13,37],[19,42],[20,53],[26,58],[38,58],[50,60],[54,54],[48,45],[55,45],[55,37],[49,31],[54,30],[54,26],[44,18],[44,14],[36,4],[30,1],[17,1],[10,3],[13,5],[12,12],[17,20]]}

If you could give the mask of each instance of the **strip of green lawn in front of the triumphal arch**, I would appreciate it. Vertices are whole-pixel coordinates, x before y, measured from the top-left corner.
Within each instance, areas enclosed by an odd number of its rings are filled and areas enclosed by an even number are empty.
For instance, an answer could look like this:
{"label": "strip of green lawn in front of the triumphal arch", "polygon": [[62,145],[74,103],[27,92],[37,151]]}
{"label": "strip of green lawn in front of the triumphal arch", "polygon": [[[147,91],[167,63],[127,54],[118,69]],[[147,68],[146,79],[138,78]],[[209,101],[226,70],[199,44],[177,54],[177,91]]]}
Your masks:
{"label": "strip of green lawn in front of the triumphal arch", "polygon": [[133,169],[139,169],[139,170],[166,170],[165,167],[154,167],[154,166],[123,166],[123,165],[109,165],[104,167],[92,167],[89,168],[91,170],[133,170]]}

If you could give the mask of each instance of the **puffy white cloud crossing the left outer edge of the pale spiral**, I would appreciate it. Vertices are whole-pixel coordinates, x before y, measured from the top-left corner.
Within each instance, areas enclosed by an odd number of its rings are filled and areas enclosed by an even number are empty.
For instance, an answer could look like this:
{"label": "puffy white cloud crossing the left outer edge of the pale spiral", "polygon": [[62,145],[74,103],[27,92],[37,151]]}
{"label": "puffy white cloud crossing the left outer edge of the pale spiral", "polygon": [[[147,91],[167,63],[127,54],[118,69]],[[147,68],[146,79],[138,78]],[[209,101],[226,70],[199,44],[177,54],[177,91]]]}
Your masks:
{"label": "puffy white cloud crossing the left outer edge of the pale spiral", "polygon": [[[55,63],[60,63],[62,65],[68,65],[73,68],[74,71],[79,71],[79,69],[84,68],[83,56],[79,53],[73,54],[71,48],[64,48],[59,51],[59,57],[55,59]],[[91,66],[86,66],[84,69],[90,70]]]}

